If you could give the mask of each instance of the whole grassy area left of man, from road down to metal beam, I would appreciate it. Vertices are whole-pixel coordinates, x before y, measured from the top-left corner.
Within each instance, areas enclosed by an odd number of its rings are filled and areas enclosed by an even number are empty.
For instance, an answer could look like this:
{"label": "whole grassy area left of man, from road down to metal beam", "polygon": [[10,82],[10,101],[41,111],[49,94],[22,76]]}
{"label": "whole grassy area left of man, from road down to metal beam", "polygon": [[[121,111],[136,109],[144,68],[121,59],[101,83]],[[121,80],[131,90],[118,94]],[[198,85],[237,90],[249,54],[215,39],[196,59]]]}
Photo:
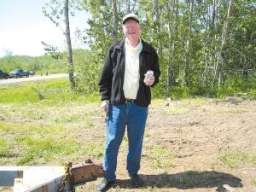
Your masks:
{"label": "whole grassy area left of man, from road down to metal beam", "polygon": [[67,79],[1,86],[0,98],[1,164],[45,164],[81,154],[102,157],[102,143],[75,140],[82,134],[78,127],[94,126],[90,116],[100,113],[95,110],[99,98],[73,93]]}

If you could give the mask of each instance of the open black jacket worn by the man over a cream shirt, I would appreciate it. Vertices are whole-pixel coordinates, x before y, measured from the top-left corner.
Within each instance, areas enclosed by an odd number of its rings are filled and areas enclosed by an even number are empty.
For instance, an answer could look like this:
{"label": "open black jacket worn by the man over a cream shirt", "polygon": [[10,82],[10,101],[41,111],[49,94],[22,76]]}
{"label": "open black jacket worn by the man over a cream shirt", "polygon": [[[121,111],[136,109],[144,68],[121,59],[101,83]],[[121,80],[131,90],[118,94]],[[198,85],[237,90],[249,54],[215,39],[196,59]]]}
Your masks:
{"label": "open black jacket worn by the man over a cream shirt", "polygon": [[[138,106],[148,107],[151,102],[150,87],[145,85],[144,74],[148,70],[154,71],[154,84],[157,84],[160,76],[158,55],[154,48],[142,40],[143,49],[139,56],[139,89],[136,103]],[[108,49],[108,55],[102,69],[99,82],[100,94],[103,100],[109,100],[113,104],[124,104],[123,90],[125,77],[125,39],[113,44]],[[154,84],[152,86],[154,86]]]}

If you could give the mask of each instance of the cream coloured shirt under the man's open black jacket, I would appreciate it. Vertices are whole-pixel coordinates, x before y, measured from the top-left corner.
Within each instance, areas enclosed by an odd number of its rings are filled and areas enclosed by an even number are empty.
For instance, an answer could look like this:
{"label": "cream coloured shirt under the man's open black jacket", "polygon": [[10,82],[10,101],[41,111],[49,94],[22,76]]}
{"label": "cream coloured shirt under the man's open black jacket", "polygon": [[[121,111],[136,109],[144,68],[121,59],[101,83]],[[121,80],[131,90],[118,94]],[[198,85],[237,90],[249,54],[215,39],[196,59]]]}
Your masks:
{"label": "cream coloured shirt under the man's open black jacket", "polygon": [[136,47],[131,47],[127,39],[125,39],[125,79],[124,94],[126,99],[136,99],[137,90],[139,88],[139,55],[143,49],[140,40]]}

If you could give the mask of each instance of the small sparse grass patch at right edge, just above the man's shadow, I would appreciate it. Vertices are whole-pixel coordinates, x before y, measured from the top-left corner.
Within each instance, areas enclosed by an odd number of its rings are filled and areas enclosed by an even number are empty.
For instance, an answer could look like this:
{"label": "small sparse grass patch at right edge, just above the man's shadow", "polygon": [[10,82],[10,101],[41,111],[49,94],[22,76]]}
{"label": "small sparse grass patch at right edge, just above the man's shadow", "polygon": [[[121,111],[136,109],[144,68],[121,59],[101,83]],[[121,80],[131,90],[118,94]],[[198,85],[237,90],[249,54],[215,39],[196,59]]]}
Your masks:
{"label": "small sparse grass patch at right edge, just above the man's shadow", "polygon": [[229,166],[230,168],[236,168],[239,165],[246,163],[256,163],[256,156],[246,154],[239,149],[231,150],[229,152],[220,154],[220,160],[224,165]]}

